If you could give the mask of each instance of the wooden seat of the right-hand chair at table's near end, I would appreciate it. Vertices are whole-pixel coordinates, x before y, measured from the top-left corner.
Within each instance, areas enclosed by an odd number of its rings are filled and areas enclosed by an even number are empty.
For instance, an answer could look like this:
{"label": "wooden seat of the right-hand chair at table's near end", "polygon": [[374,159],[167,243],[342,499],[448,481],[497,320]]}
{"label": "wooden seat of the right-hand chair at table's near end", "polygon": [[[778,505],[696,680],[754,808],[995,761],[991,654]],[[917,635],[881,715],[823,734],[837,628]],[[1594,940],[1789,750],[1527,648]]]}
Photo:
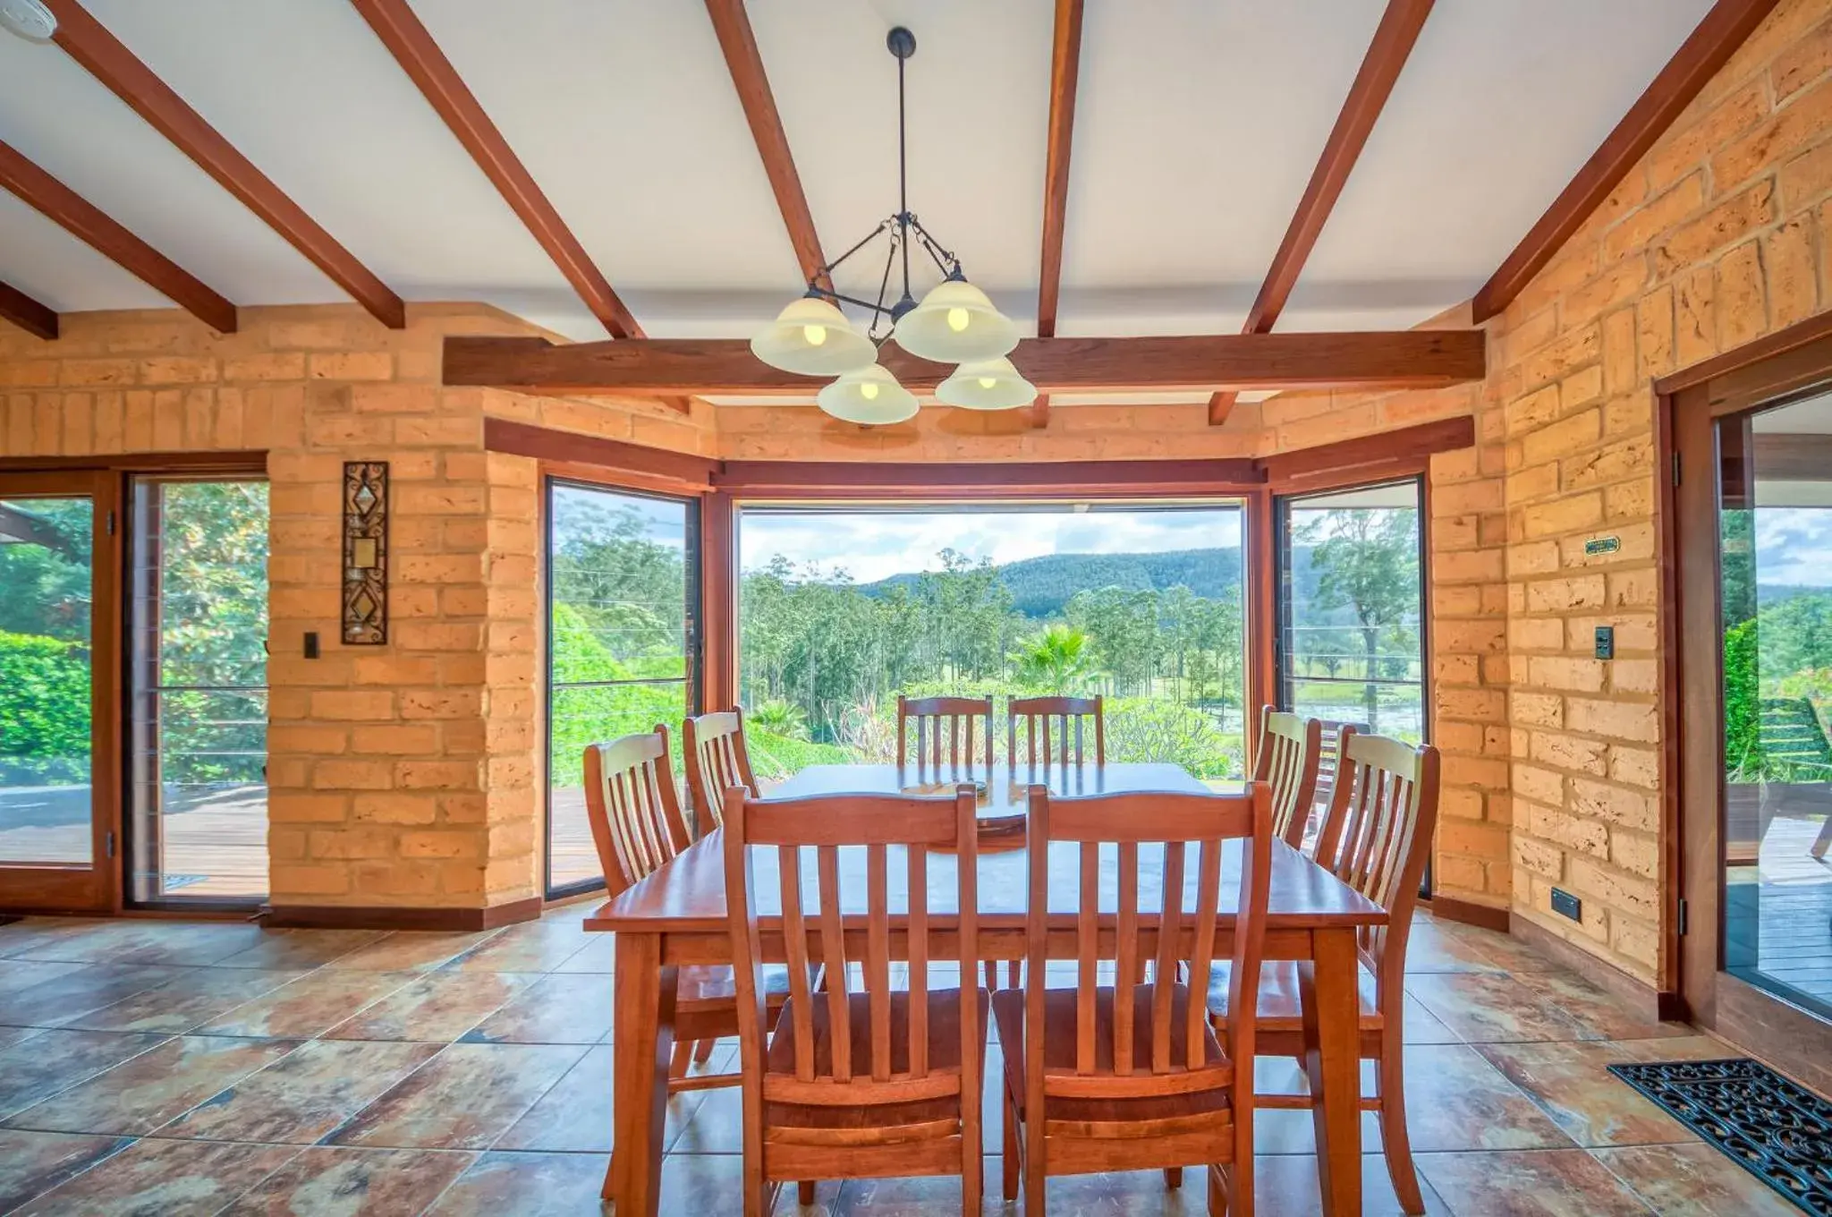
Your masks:
{"label": "wooden seat of the right-hand chair at table's near end", "polygon": [[[1132,990],[1132,1061],[1134,1069],[1145,1074],[1152,1058],[1152,1019],[1150,986],[1140,984]],[[1189,1003],[1189,988],[1172,986],[1171,1014],[1171,1061],[1182,1065],[1189,1059],[1185,1034],[1187,1019],[1183,1012]],[[1075,1069],[1075,1043],[1079,1032],[1079,1008],[1075,990],[1044,990],[1044,1039],[1042,1061],[1048,1070]],[[1006,1085],[1019,1116],[1024,1116],[1024,990],[998,990],[993,993],[993,1021],[998,1025],[1000,1056],[1006,1061]],[[1103,986],[1094,997],[1094,1065],[1097,1072],[1112,1074],[1114,1069],[1114,990]],[[1048,1102],[1050,1122],[1074,1124],[1132,1124],[1143,1120],[1180,1120],[1189,1116],[1226,1116],[1227,1087],[1233,1083],[1233,1069],[1222,1050],[1215,1030],[1202,1028],[1204,1059],[1216,1067],[1215,1085],[1185,1094],[1152,1094],[1145,1098],[1057,1098]]]}

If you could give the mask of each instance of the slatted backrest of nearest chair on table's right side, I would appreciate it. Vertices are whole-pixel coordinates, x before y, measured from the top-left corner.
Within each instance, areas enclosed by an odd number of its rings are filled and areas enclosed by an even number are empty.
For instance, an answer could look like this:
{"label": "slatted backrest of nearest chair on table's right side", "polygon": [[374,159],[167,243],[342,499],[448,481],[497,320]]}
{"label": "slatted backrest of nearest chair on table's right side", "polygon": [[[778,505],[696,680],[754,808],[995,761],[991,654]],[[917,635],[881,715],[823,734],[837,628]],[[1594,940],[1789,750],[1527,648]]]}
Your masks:
{"label": "slatted backrest of nearest chair on table's right side", "polygon": [[1369,970],[1400,982],[1412,905],[1438,825],[1438,750],[1343,731],[1341,768],[1317,838],[1317,861],[1387,909],[1385,926],[1358,933]]}

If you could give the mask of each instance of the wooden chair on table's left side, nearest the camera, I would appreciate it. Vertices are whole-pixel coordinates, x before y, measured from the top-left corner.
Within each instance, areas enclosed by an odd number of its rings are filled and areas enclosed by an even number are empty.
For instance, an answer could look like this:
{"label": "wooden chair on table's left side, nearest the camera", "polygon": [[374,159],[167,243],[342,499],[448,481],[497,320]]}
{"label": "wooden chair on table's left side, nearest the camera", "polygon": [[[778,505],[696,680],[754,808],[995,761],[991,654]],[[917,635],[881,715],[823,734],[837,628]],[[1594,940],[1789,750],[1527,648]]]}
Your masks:
{"label": "wooden chair on table's left side, nearest the camera", "polygon": [[[656,724],[654,731],[586,744],[584,810],[612,896],[687,849],[687,823],[669,762],[669,729]],[[689,964],[678,977],[669,1091],[738,1085],[738,1074],[687,1076],[689,1061],[705,1065],[718,1039],[738,1034],[738,990],[731,968]],[[786,993],[786,981],[773,975],[769,1006],[779,1008]]]}

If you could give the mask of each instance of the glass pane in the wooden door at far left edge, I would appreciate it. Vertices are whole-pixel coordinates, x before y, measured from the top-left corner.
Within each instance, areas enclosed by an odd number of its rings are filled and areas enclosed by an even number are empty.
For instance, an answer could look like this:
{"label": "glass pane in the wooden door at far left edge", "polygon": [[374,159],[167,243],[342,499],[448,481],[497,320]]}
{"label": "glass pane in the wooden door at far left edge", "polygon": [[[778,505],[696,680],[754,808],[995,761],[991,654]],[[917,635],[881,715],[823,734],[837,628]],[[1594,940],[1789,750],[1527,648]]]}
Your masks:
{"label": "glass pane in the wooden door at far left edge", "polygon": [[88,499],[0,499],[0,863],[93,861]]}

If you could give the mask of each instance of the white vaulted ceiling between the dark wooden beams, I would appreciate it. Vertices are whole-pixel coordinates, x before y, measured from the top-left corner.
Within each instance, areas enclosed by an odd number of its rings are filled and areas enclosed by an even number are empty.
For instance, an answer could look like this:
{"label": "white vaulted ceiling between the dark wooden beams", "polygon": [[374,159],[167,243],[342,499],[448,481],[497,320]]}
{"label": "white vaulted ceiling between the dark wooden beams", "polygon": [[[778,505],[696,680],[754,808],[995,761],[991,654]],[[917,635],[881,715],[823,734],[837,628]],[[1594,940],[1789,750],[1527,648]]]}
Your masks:
{"label": "white vaulted ceiling between the dark wooden beams", "polygon": [[[605,337],[343,0],[86,0],[229,143],[409,301],[485,301]],[[694,0],[412,0],[652,337],[744,337],[799,291],[713,24]],[[1088,0],[1064,335],[1237,332],[1383,0]],[[1405,328],[1500,264],[1709,0],[1440,0],[1279,330]],[[828,257],[911,207],[1028,328],[1050,0],[751,0]],[[236,304],[344,299],[57,46],[0,33],[0,139]],[[876,288],[881,262],[841,284]],[[59,312],[156,291],[9,194],[0,280]],[[918,291],[932,282],[925,275]]]}

